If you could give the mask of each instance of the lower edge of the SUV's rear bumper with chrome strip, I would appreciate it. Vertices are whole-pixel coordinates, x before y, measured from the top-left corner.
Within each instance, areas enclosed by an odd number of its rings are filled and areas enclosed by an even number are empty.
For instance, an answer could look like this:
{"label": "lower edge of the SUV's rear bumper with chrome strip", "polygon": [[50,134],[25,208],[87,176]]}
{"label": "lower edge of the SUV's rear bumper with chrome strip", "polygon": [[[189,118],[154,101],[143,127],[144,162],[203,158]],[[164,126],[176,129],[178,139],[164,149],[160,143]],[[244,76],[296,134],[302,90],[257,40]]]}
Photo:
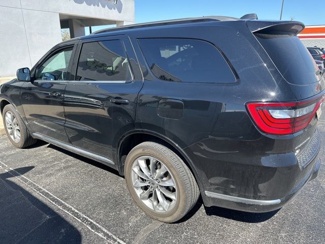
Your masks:
{"label": "lower edge of the SUV's rear bumper with chrome strip", "polygon": [[316,157],[310,164],[314,166],[306,177],[303,178],[296,188],[281,199],[255,200],[205,191],[202,194],[204,203],[206,206],[219,206],[247,212],[268,212],[279,209],[296,196],[309,180],[317,177],[320,160]]}

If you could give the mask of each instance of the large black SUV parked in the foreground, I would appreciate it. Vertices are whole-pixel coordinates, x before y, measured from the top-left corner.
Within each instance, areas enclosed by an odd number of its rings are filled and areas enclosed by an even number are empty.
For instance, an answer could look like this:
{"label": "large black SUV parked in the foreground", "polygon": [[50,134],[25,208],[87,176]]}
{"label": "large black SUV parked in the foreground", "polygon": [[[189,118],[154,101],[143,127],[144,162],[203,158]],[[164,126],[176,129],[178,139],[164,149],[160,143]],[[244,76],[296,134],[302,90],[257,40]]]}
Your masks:
{"label": "large black SUV parked in the foreground", "polygon": [[164,222],[206,206],[282,207],[320,161],[319,70],[304,24],[204,17],[62,42],[2,85],[19,148],[37,139],[117,169]]}

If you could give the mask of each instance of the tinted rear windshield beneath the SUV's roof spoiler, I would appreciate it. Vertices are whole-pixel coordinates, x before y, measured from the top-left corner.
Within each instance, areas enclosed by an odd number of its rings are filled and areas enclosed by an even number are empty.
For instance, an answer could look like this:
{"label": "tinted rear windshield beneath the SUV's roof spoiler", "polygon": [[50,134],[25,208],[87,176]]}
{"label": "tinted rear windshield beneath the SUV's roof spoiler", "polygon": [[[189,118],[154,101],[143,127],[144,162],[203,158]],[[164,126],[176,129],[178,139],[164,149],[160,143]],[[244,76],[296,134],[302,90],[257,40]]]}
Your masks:
{"label": "tinted rear windshield beneath the SUV's roof spoiler", "polygon": [[255,34],[287,82],[307,85],[321,79],[318,67],[295,35]]}

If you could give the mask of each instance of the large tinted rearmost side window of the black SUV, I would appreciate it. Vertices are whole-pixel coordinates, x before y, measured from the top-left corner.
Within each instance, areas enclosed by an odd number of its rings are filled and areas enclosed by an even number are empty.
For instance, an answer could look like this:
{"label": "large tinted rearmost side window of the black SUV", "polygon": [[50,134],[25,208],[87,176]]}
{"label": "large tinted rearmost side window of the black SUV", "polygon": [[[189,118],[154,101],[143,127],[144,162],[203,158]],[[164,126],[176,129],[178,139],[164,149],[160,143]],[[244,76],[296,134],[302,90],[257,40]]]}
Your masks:
{"label": "large tinted rearmost side window of the black SUV", "polygon": [[235,75],[219,50],[194,39],[139,39],[152,73],[160,80],[232,83]]}

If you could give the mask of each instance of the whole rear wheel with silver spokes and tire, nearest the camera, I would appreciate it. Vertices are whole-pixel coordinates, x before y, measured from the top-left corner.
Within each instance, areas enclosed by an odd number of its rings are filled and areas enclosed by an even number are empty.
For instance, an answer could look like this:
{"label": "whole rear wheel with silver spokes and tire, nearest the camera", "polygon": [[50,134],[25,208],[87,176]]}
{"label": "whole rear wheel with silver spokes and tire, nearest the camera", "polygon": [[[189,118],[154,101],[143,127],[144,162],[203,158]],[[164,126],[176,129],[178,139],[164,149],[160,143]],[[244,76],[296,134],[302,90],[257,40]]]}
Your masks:
{"label": "whole rear wheel with silver spokes and tire, nearest the camera", "polygon": [[137,205],[151,218],[172,223],[196,204],[199,187],[185,163],[155,142],[134,147],[124,165],[126,185]]}

